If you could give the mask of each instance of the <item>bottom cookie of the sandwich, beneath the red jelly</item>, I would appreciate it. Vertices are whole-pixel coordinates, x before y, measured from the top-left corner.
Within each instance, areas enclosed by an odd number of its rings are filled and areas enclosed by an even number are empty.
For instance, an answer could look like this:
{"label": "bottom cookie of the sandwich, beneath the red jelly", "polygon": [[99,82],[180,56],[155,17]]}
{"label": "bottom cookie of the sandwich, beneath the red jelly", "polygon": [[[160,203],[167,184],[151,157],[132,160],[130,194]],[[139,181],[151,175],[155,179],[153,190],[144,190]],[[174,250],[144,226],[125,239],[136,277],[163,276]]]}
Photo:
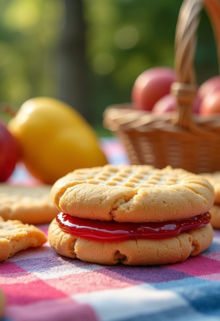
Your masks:
{"label": "bottom cookie of the sandwich, beneath the red jelly", "polygon": [[184,261],[203,252],[212,242],[211,224],[167,239],[121,242],[89,240],[61,230],[54,219],[48,231],[51,247],[60,255],[100,264],[156,265]]}

